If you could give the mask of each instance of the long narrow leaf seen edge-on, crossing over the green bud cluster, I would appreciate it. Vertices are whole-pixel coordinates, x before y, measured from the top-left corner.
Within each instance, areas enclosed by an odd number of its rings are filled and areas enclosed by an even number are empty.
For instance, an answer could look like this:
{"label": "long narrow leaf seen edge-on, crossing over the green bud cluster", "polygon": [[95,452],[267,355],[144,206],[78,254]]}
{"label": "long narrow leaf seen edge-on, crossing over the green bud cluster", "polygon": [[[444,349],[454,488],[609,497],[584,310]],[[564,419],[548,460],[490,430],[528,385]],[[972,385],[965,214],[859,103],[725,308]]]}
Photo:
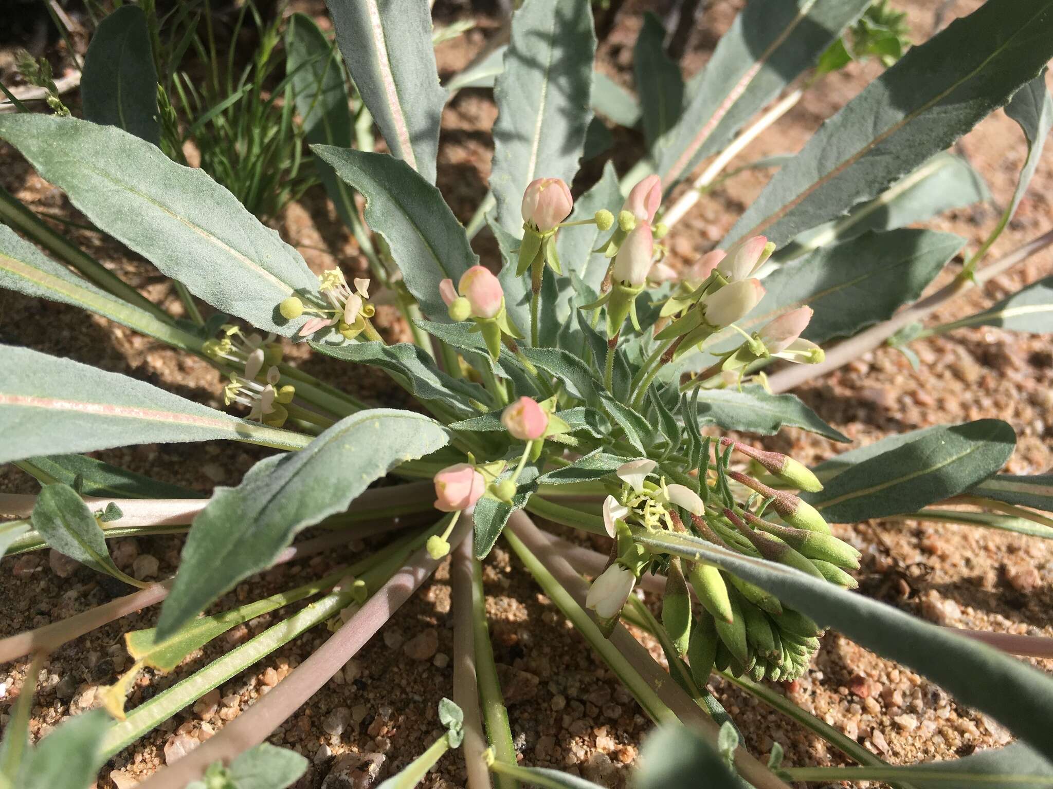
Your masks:
{"label": "long narrow leaf seen edge-on, crossing over the green bud cluster", "polygon": [[987,712],[1044,756],[1053,756],[1053,680],[1017,659],[799,570],[686,534],[644,529],[634,534],[650,550],[702,559],[756,584],[820,626],[925,674],[959,703]]}

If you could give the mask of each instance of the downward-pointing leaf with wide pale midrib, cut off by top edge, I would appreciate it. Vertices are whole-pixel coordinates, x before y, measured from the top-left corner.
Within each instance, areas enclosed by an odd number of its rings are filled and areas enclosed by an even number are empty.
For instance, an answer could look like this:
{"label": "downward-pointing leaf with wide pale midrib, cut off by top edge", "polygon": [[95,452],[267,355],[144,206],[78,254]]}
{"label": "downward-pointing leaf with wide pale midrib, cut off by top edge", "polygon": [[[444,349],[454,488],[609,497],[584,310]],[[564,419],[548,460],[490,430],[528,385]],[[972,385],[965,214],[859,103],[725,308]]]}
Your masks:
{"label": "downward-pointing leaf with wide pale midrib, cut off by top edge", "polygon": [[435,183],[439,86],[424,0],[326,0],[336,42],[389,149]]}

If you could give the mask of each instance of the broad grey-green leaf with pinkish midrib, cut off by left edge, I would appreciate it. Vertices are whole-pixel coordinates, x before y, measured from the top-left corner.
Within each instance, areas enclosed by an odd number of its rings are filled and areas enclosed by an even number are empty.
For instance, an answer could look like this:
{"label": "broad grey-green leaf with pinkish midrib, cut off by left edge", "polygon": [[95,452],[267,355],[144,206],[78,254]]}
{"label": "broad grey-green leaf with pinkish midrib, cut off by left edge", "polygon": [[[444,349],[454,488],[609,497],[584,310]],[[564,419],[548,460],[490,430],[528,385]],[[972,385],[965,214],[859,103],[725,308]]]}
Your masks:
{"label": "broad grey-green leaf with pinkish midrib, cut off by left edge", "polygon": [[227,439],[283,449],[309,437],[237,419],[156,386],[26,348],[0,346],[0,463],[115,446]]}

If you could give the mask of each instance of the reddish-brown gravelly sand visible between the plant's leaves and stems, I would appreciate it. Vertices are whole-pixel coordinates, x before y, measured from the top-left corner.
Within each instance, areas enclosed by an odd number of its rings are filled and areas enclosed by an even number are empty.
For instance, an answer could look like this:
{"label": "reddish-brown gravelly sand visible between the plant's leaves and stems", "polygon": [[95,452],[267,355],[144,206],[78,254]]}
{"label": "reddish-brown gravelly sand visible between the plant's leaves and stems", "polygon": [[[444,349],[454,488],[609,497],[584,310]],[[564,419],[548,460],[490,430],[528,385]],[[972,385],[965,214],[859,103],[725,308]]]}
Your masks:
{"label": "reddish-brown gravelly sand visible between the plant's leaves and stems", "polygon": [[[951,15],[976,7],[976,0],[956,3]],[[310,6],[310,4],[307,4]],[[632,44],[640,25],[630,5],[600,52],[600,67],[623,84],[632,84]],[[693,73],[712,52],[730,24],[738,2],[717,0],[707,9],[687,58]],[[927,38],[938,0],[900,2],[910,12],[915,40]],[[440,13],[454,16],[458,9]],[[461,9],[462,11],[462,9]],[[438,48],[443,75],[460,68],[478,49],[495,22],[483,18],[462,40]],[[877,74],[874,65],[852,66],[810,92],[780,123],[777,134],[754,143],[741,161],[790,153],[839,106]],[[439,183],[462,221],[485,190],[492,150],[489,129],[496,109],[489,92],[465,90],[445,110],[439,155]],[[616,130],[619,169],[638,155],[637,133]],[[987,179],[994,202],[1002,206],[1024,159],[1018,127],[1000,112],[981,123],[959,146]],[[583,174],[595,177],[590,164]],[[737,177],[703,200],[670,238],[673,255],[691,259],[704,251],[731,226],[764,183],[764,176]],[[7,147],[0,147],[0,179],[34,209],[71,221],[83,221],[57,189],[42,182]],[[1016,219],[995,245],[1005,254],[1048,229],[1053,154],[1047,151]],[[971,245],[997,219],[991,206],[965,208],[929,226],[956,232]],[[296,245],[315,269],[339,262],[349,275],[364,270],[355,243],[339,226],[320,190],[291,206],[278,223],[283,238]],[[67,228],[69,237],[150,298],[178,312],[178,300],[148,265],[99,234]],[[492,242],[480,239],[478,251],[494,262]],[[945,277],[953,276],[955,264]],[[970,315],[1053,271],[1053,254],[1035,256],[986,287],[945,306],[936,321]],[[391,338],[404,328],[381,310],[380,323]],[[185,358],[110,322],[61,305],[0,292],[0,342],[25,345],[97,367],[124,372],[168,390],[221,407],[219,378],[206,365]],[[830,424],[854,441],[927,425],[996,417],[1009,421],[1018,436],[1008,470],[1038,473],[1053,463],[1053,352],[1045,337],[1000,329],[963,329],[914,345],[921,359],[912,370],[899,352],[882,348],[841,370],[800,387],[797,393]],[[405,405],[384,376],[362,367],[341,366],[291,353],[305,369],[364,398]],[[9,372],[8,372],[9,375]],[[762,442],[802,461],[841,450],[821,438],[789,429]],[[207,491],[236,484],[264,450],[238,445],[147,445],[97,453],[97,457],[161,480]],[[35,484],[14,468],[0,469],[0,490],[33,492]],[[861,593],[941,624],[998,632],[1053,635],[1053,562],[1048,544],[1031,538],[965,526],[873,521],[839,527],[838,533],[865,554],[858,572]],[[137,557],[159,561],[160,576],[175,571],[182,540],[178,537],[126,540],[113,545],[127,567]],[[602,549],[602,546],[597,545]],[[254,578],[223,598],[217,610],[295,586],[298,579],[321,574],[356,553],[326,554],[277,568]],[[148,564],[148,562],[147,562]],[[0,600],[5,616],[0,634],[11,634],[99,605],[121,593],[86,568],[60,578],[45,552],[4,560]],[[552,766],[584,775],[605,786],[620,786],[635,758],[649,722],[570,624],[539,592],[530,576],[499,543],[485,566],[488,611],[497,661],[510,706],[513,734],[525,764]],[[154,624],[146,610],[86,635],[59,650],[41,673],[32,731],[44,735],[71,713],[95,703],[99,685],[112,682],[127,664],[121,634]],[[192,655],[167,676],[146,672],[137,683],[128,707],[151,697],[204,663],[255,634],[276,620],[263,616]],[[452,693],[452,616],[449,574],[443,566],[362,652],[309,704],[275,732],[272,742],[294,748],[311,760],[298,786],[337,789],[350,786],[334,765],[341,754],[381,754],[380,776],[420,753],[438,734],[436,703]],[[165,761],[170,750],[203,740],[265,693],[326,636],[316,628],[225,683],[215,704],[186,709],[112,760],[100,772],[99,787],[131,786]],[[653,647],[653,645],[651,645]],[[652,650],[660,659],[658,650]],[[1045,670],[1053,664],[1032,661]],[[0,667],[0,723],[17,695],[26,664]],[[977,677],[977,681],[981,681]],[[757,754],[778,742],[787,765],[838,764],[843,760],[824,743],[782,719],[750,696],[714,680],[711,687],[735,717]],[[779,686],[781,687],[781,686]],[[840,728],[871,750],[896,764],[953,758],[976,748],[1008,741],[994,722],[960,707],[947,693],[916,674],[881,660],[835,633],[823,639],[814,667],[798,682],[781,687],[796,704]],[[346,764],[346,761],[343,763]],[[329,777],[327,777],[329,776]],[[461,786],[459,755],[448,755],[425,786]],[[361,782],[360,782],[361,783]],[[366,782],[367,783],[367,782]]]}

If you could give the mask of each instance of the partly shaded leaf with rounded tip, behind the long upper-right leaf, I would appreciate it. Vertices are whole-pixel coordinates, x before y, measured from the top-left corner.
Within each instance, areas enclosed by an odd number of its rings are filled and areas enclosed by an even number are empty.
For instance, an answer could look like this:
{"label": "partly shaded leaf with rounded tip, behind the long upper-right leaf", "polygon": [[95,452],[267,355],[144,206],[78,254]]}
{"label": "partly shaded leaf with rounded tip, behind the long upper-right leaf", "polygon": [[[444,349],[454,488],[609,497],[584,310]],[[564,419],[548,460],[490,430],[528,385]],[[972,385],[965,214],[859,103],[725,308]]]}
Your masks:
{"label": "partly shaded leaf with rounded tip, behind the long upper-right leaf", "polygon": [[990,198],[991,194],[982,177],[969,162],[954,154],[942,151],[913,173],[903,176],[869,203],[853,208],[847,217],[806,230],[779,249],[774,259],[793,260],[813,249],[849,241],[867,230],[906,227],[951,208],[979,203]]}

